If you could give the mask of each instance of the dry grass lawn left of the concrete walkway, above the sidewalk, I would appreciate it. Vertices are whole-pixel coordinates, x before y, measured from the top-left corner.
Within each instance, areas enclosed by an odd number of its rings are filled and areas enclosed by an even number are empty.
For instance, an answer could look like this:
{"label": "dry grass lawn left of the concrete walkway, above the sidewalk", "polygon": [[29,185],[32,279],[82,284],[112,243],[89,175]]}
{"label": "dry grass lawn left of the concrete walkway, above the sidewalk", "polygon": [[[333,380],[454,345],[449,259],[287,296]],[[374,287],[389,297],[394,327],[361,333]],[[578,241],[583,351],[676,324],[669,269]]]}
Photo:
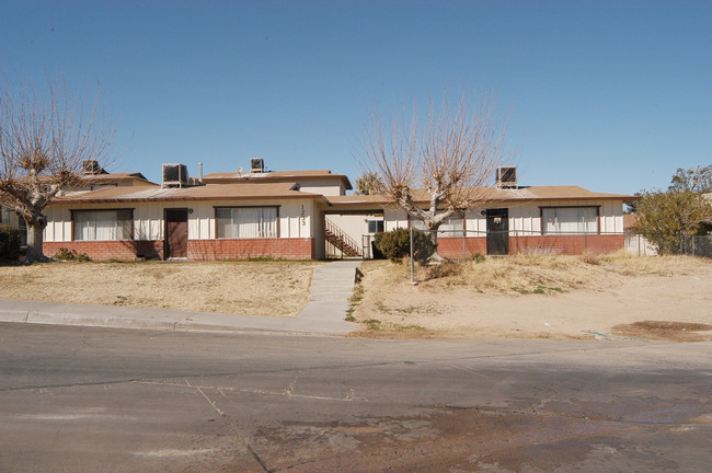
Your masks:
{"label": "dry grass lawn left of the concrete walkway, above the sidewalk", "polygon": [[315,262],[45,263],[0,268],[0,298],[296,316]]}

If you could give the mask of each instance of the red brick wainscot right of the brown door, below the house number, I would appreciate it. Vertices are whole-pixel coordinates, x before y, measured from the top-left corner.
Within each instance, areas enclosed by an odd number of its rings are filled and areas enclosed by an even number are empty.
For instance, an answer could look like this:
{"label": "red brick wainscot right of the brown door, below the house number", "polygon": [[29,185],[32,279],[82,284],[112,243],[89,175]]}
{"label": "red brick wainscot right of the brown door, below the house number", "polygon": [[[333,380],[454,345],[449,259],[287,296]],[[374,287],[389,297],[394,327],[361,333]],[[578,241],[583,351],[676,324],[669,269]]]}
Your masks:
{"label": "red brick wainscot right of the brown door, below the house number", "polygon": [[188,259],[314,259],[314,239],[188,240]]}

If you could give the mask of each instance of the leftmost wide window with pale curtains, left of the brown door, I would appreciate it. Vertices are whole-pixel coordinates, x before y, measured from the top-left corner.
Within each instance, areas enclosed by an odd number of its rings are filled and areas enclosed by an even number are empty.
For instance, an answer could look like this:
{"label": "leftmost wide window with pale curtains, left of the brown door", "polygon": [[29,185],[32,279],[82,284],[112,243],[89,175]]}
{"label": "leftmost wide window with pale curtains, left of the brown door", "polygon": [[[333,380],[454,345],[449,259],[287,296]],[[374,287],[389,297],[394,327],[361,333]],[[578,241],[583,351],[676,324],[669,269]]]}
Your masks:
{"label": "leftmost wide window with pale curtains, left of the brown door", "polygon": [[134,211],[72,210],[73,239],[88,241],[131,240]]}

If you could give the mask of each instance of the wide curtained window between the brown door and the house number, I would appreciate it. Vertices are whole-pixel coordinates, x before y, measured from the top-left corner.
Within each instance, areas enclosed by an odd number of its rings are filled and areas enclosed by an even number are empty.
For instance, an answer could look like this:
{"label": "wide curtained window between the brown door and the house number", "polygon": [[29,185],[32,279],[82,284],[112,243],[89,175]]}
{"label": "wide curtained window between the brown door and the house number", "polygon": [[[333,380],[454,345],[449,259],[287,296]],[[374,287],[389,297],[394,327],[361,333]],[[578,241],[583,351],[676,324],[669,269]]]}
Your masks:
{"label": "wide curtained window between the brown door and the house number", "polygon": [[278,238],[277,207],[216,207],[217,238]]}

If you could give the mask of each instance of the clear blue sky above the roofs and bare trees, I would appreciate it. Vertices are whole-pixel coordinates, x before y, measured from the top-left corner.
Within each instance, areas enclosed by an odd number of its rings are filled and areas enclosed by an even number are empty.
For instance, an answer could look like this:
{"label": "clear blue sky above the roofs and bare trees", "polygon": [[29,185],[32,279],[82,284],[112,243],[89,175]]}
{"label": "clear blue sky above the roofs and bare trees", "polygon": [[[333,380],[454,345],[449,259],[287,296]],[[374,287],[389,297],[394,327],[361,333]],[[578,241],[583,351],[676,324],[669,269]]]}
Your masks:
{"label": "clear blue sky above the roofs and bare trees", "polygon": [[712,1],[0,2],[0,71],[101,84],[114,171],[352,181],[375,107],[496,96],[522,185],[632,194],[712,162]]}

